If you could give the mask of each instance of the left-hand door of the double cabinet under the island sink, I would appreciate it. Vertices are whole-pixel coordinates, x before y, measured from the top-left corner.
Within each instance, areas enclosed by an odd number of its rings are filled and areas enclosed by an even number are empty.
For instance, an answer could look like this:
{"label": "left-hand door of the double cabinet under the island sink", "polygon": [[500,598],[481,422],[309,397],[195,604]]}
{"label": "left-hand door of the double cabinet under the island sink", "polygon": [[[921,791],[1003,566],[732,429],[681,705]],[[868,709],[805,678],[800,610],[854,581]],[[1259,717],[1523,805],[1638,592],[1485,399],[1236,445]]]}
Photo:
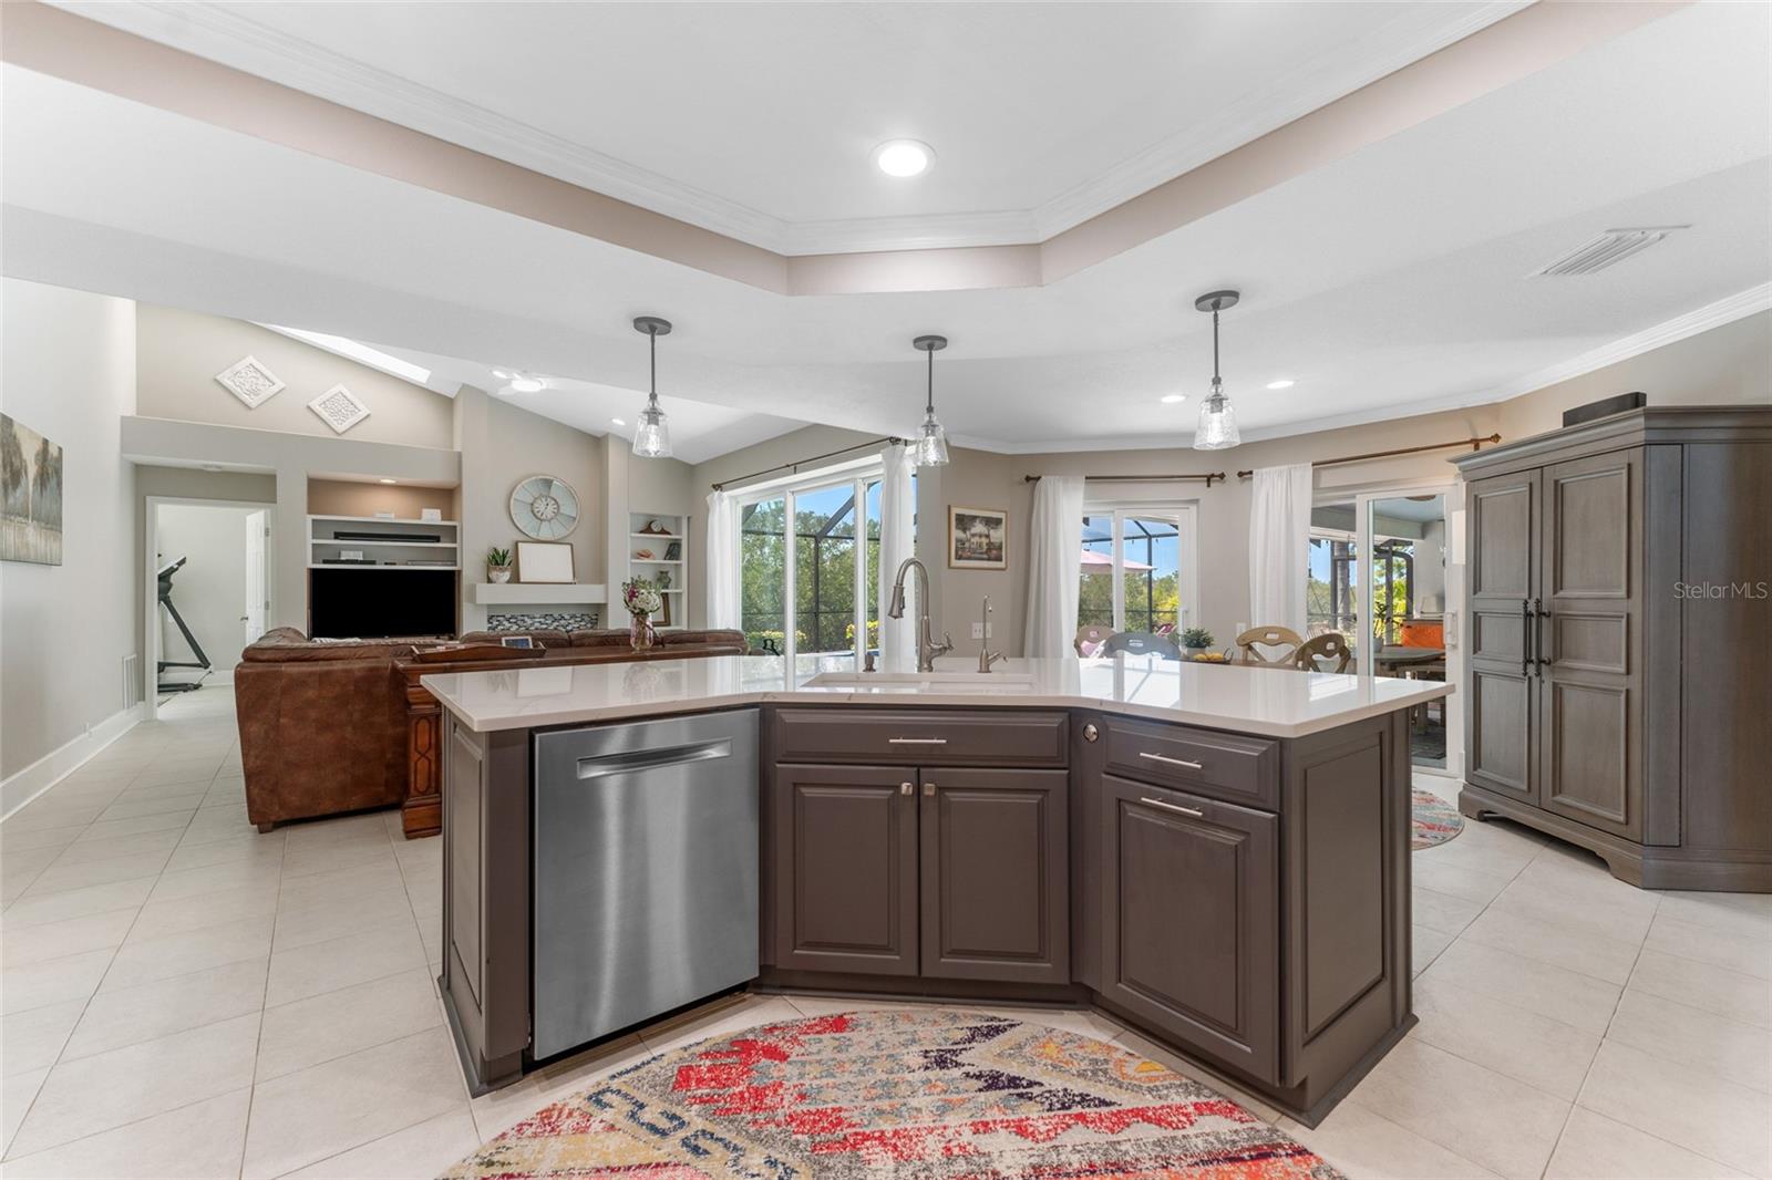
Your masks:
{"label": "left-hand door of the double cabinet under the island sink", "polygon": [[916,974],[914,780],[907,769],[776,769],[776,966]]}

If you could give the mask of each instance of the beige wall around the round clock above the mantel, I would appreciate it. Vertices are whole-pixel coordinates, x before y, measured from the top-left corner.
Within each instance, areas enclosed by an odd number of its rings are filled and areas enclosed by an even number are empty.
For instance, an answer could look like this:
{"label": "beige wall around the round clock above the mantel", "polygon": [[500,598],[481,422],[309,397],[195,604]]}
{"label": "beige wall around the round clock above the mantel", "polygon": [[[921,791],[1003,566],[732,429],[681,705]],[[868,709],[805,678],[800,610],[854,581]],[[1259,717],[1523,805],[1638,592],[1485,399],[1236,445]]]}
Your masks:
{"label": "beige wall around the round clock above the mantel", "polygon": [[[532,415],[473,386],[455,395],[454,432],[461,445],[461,585],[462,629],[482,627],[473,585],[486,581],[486,551],[521,539],[510,521],[510,493],[530,475],[555,475],[578,493],[579,524],[572,546],[578,581],[604,581],[604,473],[601,441],[551,418]],[[530,608],[537,609],[537,608]]]}

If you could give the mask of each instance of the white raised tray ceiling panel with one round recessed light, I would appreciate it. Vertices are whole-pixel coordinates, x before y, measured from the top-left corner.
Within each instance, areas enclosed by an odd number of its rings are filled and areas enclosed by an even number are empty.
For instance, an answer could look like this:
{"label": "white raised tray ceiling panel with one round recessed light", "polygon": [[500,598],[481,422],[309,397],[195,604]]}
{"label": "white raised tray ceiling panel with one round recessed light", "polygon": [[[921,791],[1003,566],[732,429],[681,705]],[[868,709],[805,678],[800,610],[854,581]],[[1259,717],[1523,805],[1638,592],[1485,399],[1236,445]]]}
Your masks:
{"label": "white raised tray ceiling panel with one round recessed light", "polygon": [[[1524,4],[62,7],[815,253],[1049,237]],[[890,138],[937,167],[882,177]]]}

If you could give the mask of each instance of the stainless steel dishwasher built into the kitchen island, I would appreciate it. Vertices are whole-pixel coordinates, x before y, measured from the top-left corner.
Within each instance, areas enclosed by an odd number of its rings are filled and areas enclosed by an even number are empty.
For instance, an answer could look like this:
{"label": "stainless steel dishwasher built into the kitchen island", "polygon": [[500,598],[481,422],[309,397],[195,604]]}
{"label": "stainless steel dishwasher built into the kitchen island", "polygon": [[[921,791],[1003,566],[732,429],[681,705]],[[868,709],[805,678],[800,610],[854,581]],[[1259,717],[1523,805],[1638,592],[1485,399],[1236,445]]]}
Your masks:
{"label": "stainless steel dishwasher built into the kitchen island", "polygon": [[548,1058],[757,978],[757,710],[535,735]]}

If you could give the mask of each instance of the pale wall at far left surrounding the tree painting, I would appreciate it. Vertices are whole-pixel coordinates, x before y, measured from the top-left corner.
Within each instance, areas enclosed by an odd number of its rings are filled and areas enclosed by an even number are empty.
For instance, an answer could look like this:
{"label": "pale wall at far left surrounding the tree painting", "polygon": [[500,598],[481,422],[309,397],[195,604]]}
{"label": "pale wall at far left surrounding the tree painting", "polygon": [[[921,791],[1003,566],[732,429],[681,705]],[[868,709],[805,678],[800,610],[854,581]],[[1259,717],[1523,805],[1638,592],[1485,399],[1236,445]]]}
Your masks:
{"label": "pale wall at far left surrounding the tree painting", "polygon": [[135,344],[128,299],[0,280],[0,409],[62,446],[62,563],[0,563],[0,778],[124,707],[122,659],[140,652],[119,441]]}

